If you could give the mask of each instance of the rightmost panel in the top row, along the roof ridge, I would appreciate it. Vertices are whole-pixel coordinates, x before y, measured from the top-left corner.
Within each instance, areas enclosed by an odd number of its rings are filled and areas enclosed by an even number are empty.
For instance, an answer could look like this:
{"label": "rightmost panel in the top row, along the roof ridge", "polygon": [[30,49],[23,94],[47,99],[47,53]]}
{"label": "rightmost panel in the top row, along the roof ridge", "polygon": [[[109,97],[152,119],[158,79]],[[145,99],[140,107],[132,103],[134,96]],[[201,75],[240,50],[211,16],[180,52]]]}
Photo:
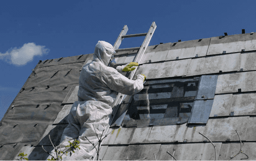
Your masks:
{"label": "rightmost panel in the top row, along the roof ridge", "polygon": [[219,53],[240,52],[256,50],[256,34],[239,34],[225,36],[224,38],[212,37],[209,45],[207,55],[215,55]]}

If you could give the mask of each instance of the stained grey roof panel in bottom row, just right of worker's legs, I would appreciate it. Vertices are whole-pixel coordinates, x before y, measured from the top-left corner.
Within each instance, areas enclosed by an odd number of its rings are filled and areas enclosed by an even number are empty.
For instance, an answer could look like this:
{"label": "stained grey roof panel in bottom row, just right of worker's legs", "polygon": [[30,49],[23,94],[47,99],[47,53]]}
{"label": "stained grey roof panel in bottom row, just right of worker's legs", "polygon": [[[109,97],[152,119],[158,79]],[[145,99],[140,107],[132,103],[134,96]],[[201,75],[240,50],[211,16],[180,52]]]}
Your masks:
{"label": "stained grey roof panel in bottom row, just right of worker's legs", "polygon": [[103,160],[155,160],[161,144],[109,146]]}

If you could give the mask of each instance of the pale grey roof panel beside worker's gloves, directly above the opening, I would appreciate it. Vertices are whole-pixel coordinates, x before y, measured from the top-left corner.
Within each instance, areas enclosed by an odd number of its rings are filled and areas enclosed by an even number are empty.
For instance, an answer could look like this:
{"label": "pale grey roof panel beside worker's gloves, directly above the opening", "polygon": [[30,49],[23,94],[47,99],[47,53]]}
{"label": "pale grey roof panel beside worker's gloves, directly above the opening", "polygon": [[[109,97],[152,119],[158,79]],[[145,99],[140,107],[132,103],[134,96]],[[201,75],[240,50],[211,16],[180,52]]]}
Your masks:
{"label": "pale grey roof panel beside worker's gloves, directly above the opening", "polygon": [[[186,75],[191,59],[169,61],[162,63],[143,64],[139,66],[135,75],[144,74],[147,79],[164,78]],[[136,79],[136,76],[133,77]]]}

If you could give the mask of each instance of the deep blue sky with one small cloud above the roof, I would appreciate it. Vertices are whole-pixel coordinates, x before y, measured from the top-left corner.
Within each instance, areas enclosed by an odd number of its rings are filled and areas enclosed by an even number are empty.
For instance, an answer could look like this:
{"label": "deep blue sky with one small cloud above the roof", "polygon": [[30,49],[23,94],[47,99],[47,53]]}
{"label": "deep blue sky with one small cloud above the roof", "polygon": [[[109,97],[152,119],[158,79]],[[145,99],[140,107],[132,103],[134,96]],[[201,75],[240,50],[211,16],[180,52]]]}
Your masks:
{"label": "deep blue sky with one small cloud above the roof", "polygon": [[[0,120],[39,60],[93,53],[98,40],[157,29],[150,45],[256,32],[256,1],[1,1]],[[144,37],[124,39],[138,47]]]}

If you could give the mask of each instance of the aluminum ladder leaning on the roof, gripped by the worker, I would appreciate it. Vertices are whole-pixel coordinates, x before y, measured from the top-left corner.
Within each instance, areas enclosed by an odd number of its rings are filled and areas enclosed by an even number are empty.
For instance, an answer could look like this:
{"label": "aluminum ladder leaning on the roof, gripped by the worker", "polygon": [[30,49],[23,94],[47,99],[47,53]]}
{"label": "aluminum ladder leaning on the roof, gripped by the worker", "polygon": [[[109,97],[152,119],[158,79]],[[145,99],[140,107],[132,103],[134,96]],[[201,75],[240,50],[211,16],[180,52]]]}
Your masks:
{"label": "aluminum ladder leaning on the roof, gripped by the worker", "polygon": [[[123,29],[122,29],[122,31],[120,32],[120,34],[119,34],[119,36],[118,36],[118,38],[117,38],[117,40],[116,40],[116,42],[115,42],[115,44],[114,44],[113,47],[114,47],[114,49],[115,49],[116,51],[139,50],[138,53],[137,53],[137,56],[135,57],[135,59],[133,60],[133,62],[136,62],[136,63],[140,64],[140,61],[141,61],[141,59],[142,59],[142,57],[143,57],[143,55],[144,55],[144,53],[145,53],[145,51],[146,51],[146,48],[147,48],[148,44],[150,44],[150,40],[151,40],[151,38],[152,38],[152,36],[153,36],[153,34],[154,34],[156,28],[157,28],[156,23],[155,23],[155,22],[152,22],[152,24],[151,24],[151,26],[150,26],[150,30],[148,30],[147,33],[126,35],[126,33],[127,33],[127,31],[128,31],[128,27],[127,27],[127,25],[124,25],[124,26],[123,26]],[[139,36],[146,36],[145,39],[144,39],[144,41],[143,41],[143,43],[142,43],[142,45],[141,45],[140,47],[132,47],[132,48],[118,49],[119,46],[121,45],[122,40],[123,40],[124,38],[139,37]],[[136,67],[135,70],[131,71],[130,74],[126,74],[126,76],[127,76],[129,79],[133,79],[133,76],[134,76],[135,72],[137,71],[137,68],[138,68],[138,67]],[[111,124],[113,123],[112,121],[113,121],[113,119],[114,119],[114,117],[115,117],[115,115],[116,115],[116,113],[117,113],[117,111],[118,111],[118,109],[119,109],[119,105],[121,104],[121,102],[122,102],[124,96],[125,96],[124,94],[118,93],[118,95],[117,95],[115,101],[113,102],[113,105],[112,105],[113,112],[112,112],[112,115],[111,115],[110,121],[109,121]],[[105,129],[105,131],[103,132],[103,136],[105,136],[105,135],[108,133],[109,128],[110,128],[110,125],[108,125],[108,127],[107,127],[107,128]],[[101,143],[101,144],[102,144],[102,143]],[[101,144],[100,144],[100,146],[101,146]],[[97,155],[97,154],[94,155],[94,158],[93,158],[93,159],[96,158],[96,155]]]}

